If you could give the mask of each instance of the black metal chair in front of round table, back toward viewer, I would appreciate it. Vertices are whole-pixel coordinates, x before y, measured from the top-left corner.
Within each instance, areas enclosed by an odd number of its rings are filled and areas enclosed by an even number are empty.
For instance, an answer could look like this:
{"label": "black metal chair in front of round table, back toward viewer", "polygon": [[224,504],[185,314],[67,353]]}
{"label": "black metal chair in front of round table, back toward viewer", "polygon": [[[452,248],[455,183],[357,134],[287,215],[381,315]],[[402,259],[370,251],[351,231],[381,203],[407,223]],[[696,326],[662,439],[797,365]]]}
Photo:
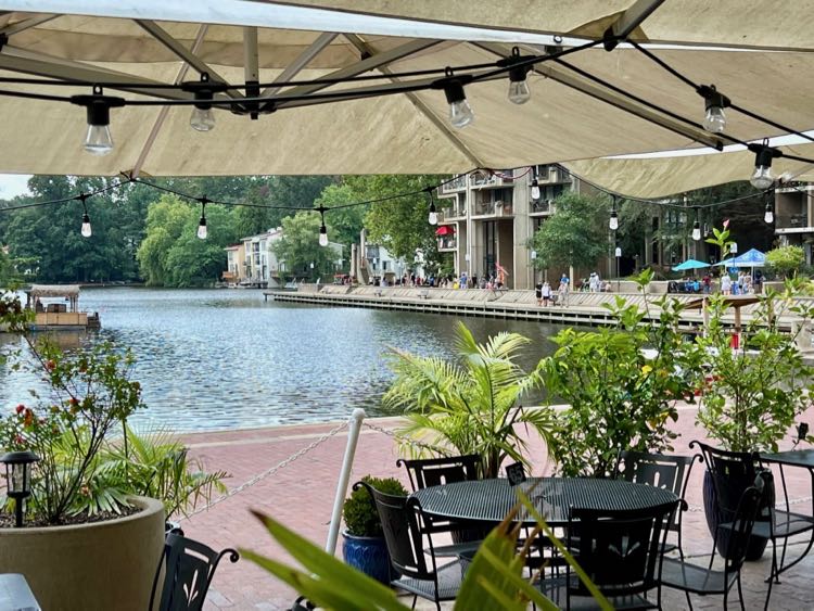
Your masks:
{"label": "black metal chair in front of round table, back toward viewer", "polygon": [[[664,527],[681,501],[645,510],[609,511],[573,508],[567,544],[588,577],[614,609],[661,609]],[[578,540],[571,533],[577,532]],[[590,591],[565,564],[565,576],[543,580],[540,587],[565,609],[597,609]],[[647,597],[656,590],[656,600]]]}

